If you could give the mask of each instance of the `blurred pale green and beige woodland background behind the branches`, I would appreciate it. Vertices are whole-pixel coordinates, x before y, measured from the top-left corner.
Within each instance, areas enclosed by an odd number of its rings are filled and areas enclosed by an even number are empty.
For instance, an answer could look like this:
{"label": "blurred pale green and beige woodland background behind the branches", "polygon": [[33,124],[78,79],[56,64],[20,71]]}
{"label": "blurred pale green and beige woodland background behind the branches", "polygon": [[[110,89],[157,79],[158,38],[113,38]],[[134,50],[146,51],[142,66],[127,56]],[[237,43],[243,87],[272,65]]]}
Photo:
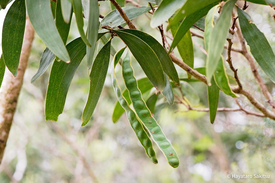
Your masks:
{"label": "blurred pale green and beige woodland background behind the branches", "polygon": [[[138,2],[148,5],[144,1]],[[275,50],[275,24],[271,16],[274,11],[267,6],[250,2],[248,4],[247,12],[251,15],[252,21],[265,33]],[[7,9],[0,11],[1,26]],[[102,15],[110,11],[108,1],[100,2]],[[158,29],[149,26],[150,16],[147,13],[133,22],[139,30],[149,33],[161,42]],[[84,23],[87,26],[87,22]],[[193,31],[202,33],[195,29]],[[67,43],[77,37],[79,33],[73,15]],[[171,42],[169,39],[168,41]],[[203,40],[193,37],[193,43],[194,67],[202,67],[206,60],[201,50],[204,48]],[[233,43],[233,47],[239,46],[237,37]],[[124,44],[115,37],[112,46],[118,50]],[[17,112],[0,166],[1,183],[275,182],[274,121],[248,116],[244,112],[218,112],[215,123],[211,125],[207,112],[186,111],[185,106],[180,104],[164,105],[166,101],[163,96],[159,96],[158,114],[155,115],[158,116],[160,126],[177,151],[180,165],[178,168],[169,166],[156,146],[154,149],[159,163],[153,164],[131,129],[126,115],[123,114],[116,124],[112,122],[116,96],[111,84],[110,70],[92,119],[85,127],[81,127],[81,115],[89,92],[86,57],[72,80],[65,108],[58,122],[45,121],[44,106],[50,69],[33,84],[30,83],[45,47],[36,35]],[[101,47],[102,43],[98,43],[98,50]],[[177,51],[175,52],[179,57]],[[238,68],[243,85],[257,96],[258,100],[264,102],[265,99],[260,95],[247,61],[239,53],[232,54],[233,65]],[[134,58],[133,67],[137,78],[145,77]],[[227,63],[226,67],[228,68]],[[179,75],[186,75],[181,68],[176,68]],[[268,80],[259,66],[258,68],[274,95],[274,83]],[[230,73],[229,68],[227,71]],[[122,87],[121,67],[117,67],[116,72]],[[207,108],[206,85],[201,82],[190,85],[199,96],[199,103],[195,106]],[[153,92],[155,91],[147,92],[143,97],[148,98]],[[240,97],[240,100],[246,101],[244,97]],[[219,106],[238,107],[232,98],[221,91]],[[253,109],[252,106],[243,107]],[[232,179],[227,178],[227,174],[266,174],[270,175],[270,178]]]}

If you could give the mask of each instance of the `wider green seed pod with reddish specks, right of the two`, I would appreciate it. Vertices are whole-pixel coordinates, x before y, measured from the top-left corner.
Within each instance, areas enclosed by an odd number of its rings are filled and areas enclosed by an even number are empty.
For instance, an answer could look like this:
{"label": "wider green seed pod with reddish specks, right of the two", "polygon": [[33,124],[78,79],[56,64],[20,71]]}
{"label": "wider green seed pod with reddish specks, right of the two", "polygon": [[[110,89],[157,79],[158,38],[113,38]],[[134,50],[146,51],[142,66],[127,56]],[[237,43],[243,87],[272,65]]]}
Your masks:
{"label": "wider green seed pod with reddish specks, right of the two", "polygon": [[141,120],[142,124],[147,128],[160,150],[165,155],[168,163],[174,168],[178,167],[179,161],[176,151],[172,147],[171,143],[167,140],[156,120],[152,117],[150,110],[146,106],[141,96],[137,80],[134,77],[134,70],[131,66],[131,57],[129,51],[122,61],[122,77],[124,79],[125,86],[129,91],[130,99],[133,103],[133,107],[137,116]]}

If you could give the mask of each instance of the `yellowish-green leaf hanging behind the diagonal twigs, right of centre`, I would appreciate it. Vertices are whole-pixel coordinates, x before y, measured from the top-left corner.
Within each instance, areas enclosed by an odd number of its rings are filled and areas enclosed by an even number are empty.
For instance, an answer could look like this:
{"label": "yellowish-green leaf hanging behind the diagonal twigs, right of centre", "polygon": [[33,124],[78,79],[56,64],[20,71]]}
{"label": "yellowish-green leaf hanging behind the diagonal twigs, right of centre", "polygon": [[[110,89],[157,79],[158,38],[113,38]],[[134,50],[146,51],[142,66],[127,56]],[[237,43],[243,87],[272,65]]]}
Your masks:
{"label": "yellowish-green leaf hanging behind the diagonal twigs, right of centre", "polygon": [[[180,23],[171,26],[172,35],[175,37]],[[182,37],[182,39],[177,44],[178,52],[184,63],[186,63],[191,68],[194,68],[194,48],[193,41],[190,30]],[[188,74],[188,78],[191,78],[191,74]]]}

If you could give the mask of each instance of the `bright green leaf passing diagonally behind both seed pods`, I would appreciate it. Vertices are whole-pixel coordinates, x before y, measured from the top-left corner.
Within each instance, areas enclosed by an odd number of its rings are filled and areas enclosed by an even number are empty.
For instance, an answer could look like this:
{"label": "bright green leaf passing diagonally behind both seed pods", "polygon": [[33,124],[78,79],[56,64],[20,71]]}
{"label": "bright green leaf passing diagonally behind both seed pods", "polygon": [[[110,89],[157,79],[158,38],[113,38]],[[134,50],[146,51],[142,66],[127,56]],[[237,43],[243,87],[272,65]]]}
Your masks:
{"label": "bright green leaf passing diagonally behind both seed pods", "polygon": [[[153,88],[153,85],[148,78],[139,79],[138,86],[139,86],[139,90],[141,91],[142,94]],[[127,101],[127,103],[130,105],[132,102],[129,97],[129,92],[126,88],[123,90],[122,94],[123,94],[123,97],[125,98],[125,100]],[[115,108],[114,108],[113,116],[112,116],[112,120],[114,123],[117,122],[117,120],[120,118],[120,116],[123,114],[123,112],[124,112],[124,110],[123,110],[122,106],[117,101]]]}

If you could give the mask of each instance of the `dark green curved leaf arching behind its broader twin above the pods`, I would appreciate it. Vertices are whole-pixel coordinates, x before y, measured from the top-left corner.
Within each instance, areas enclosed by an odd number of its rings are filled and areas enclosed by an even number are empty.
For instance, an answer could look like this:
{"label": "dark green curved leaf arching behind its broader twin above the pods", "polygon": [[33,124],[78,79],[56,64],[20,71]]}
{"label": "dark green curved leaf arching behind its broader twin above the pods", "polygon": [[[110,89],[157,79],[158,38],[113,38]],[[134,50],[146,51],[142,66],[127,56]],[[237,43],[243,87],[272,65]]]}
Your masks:
{"label": "dark green curved leaf arching behind its broader twin above the pods", "polygon": [[140,30],[122,29],[120,31],[135,35],[148,44],[148,46],[150,46],[150,48],[155,52],[156,56],[160,60],[163,71],[168,75],[169,78],[171,78],[171,80],[173,80],[176,84],[179,84],[178,73],[170,56],[167,54],[165,48],[155,38]]}

